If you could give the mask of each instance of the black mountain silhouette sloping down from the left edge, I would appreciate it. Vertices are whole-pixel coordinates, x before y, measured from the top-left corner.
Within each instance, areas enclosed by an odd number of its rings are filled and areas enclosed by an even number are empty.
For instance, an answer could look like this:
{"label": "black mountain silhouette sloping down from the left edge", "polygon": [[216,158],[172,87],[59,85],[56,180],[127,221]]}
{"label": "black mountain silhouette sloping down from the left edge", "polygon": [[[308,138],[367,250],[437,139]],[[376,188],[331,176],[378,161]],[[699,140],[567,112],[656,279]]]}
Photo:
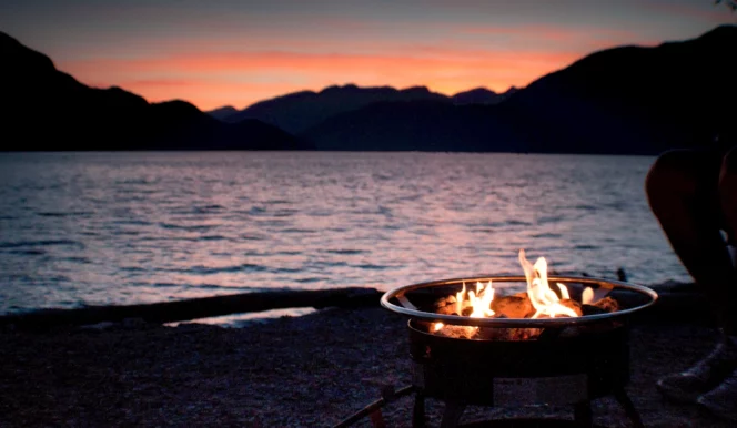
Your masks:
{"label": "black mountain silhouette sloping down from the left edge", "polygon": [[[0,58],[2,151],[302,147],[259,121],[228,124],[184,101],[152,104],[120,88],[89,88],[4,33]],[[39,109],[44,114],[28,114]]]}

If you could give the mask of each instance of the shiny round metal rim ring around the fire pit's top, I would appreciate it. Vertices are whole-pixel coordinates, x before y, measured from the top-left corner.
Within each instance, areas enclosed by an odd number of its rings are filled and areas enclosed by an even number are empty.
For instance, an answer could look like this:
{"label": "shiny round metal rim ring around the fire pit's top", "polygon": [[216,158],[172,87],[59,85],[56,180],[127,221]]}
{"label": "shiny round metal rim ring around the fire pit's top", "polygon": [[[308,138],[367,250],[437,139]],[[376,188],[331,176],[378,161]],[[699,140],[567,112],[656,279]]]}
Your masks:
{"label": "shiny round metal rim ring around the fire pit's top", "polygon": [[[578,276],[548,276],[551,282],[559,283],[577,283],[577,284],[588,284],[588,285],[607,285],[613,286],[613,289],[627,289],[636,292],[643,295],[646,295],[650,298],[646,304],[613,312],[605,314],[595,314],[595,315],[584,315],[579,317],[556,317],[556,318],[472,318],[466,316],[458,315],[445,315],[424,312],[415,308],[410,304],[411,307],[403,307],[391,303],[392,298],[402,299],[407,292],[421,289],[421,288],[431,288],[442,285],[457,284],[462,282],[474,283],[474,282],[499,282],[499,283],[524,283],[526,278],[524,276],[502,276],[502,275],[487,275],[487,276],[476,276],[476,277],[466,277],[466,278],[451,278],[451,279],[440,279],[431,281],[426,283],[418,283],[412,285],[404,285],[401,287],[393,288],[384,293],[381,297],[381,305],[392,312],[410,316],[416,319],[424,319],[428,322],[442,322],[444,324],[451,325],[464,325],[473,327],[505,327],[505,328],[547,328],[547,327],[569,327],[584,325],[589,323],[596,323],[604,319],[614,319],[626,317],[637,310],[645,309],[655,304],[658,299],[658,295],[652,288],[648,288],[643,285],[629,284],[614,279],[603,279],[594,277],[578,277]],[[404,304],[404,303],[403,303]]]}

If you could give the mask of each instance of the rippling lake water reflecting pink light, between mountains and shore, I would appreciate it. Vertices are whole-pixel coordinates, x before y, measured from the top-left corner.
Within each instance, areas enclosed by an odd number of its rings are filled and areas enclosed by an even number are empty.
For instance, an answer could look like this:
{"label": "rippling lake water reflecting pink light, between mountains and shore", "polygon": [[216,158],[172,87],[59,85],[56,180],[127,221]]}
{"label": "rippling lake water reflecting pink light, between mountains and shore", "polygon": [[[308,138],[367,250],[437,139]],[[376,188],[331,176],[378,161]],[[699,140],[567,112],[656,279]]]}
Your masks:
{"label": "rippling lake water reflecting pink light, between mountains and shore", "polygon": [[653,161],[0,154],[0,313],[521,275],[519,248],[561,273],[688,281],[645,200]]}

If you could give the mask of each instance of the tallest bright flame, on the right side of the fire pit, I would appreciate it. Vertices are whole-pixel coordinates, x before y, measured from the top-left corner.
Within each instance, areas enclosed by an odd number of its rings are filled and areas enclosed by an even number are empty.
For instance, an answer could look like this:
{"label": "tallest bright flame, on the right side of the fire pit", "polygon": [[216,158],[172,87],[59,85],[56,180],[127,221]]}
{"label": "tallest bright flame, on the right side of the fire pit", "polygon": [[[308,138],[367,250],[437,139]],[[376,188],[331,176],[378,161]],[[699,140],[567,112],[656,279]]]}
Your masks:
{"label": "tallest bright flame, on the right side of the fire pit", "polygon": [[[525,251],[519,249],[519,263],[527,278],[527,296],[535,308],[533,318],[544,315],[551,318],[559,315],[578,316],[575,310],[561,304],[561,298],[547,284],[547,262],[544,257],[539,257],[533,265],[525,257]],[[562,291],[565,289],[563,284],[557,285]],[[562,295],[567,296],[568,289],[565,291],[565,294],[562,292]]]}

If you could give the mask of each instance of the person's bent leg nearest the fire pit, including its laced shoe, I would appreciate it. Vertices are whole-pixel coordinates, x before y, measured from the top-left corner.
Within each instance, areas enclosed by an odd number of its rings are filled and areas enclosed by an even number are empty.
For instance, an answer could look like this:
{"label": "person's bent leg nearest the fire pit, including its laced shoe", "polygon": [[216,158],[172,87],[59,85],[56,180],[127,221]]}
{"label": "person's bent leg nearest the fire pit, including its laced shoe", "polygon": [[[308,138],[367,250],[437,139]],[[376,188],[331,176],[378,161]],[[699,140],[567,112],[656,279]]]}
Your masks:
{"label": "person's bent leg nearest the fire pit, including its laced shoe", "polygon": [[[647,195],[673,249],[711,300],[719,327],[729,334],[737,274],[719,230],[728,228],[720,204],[721,159],[715,152],[673,151],[662,155],[647,176]],[[721,174],[725,192],[730,174]],[[729,235],[729,231],[727,231]],[[674,401],[700,402],[720,411],[715,402],[734,401],[727,380],[737,367],[737,347],[727,339],[686,371],[658,380],[660,393]],[[727,380],[725,380],[727,379]],[[724,384],[723,384],[724,383]],[[719,384],[725,387],[715,389]],[[706,393],[714,390],[718,395]]]}

